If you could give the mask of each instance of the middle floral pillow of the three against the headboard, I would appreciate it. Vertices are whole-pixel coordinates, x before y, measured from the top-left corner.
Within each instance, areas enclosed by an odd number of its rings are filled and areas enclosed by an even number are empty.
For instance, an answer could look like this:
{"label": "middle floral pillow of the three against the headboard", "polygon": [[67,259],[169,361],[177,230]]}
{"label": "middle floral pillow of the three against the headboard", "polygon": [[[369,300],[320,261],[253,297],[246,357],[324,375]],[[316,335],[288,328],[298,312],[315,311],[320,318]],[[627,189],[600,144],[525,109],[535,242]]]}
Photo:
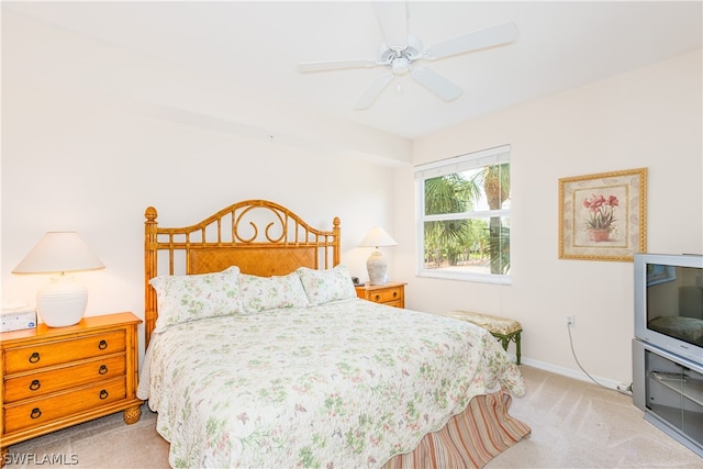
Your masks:
{"label": "middle floral pillow of the three against the headboard", "polygon": [[271,277],[242,273],[239,289],[245,313],[308,306],[308,297],[295,272]]}

